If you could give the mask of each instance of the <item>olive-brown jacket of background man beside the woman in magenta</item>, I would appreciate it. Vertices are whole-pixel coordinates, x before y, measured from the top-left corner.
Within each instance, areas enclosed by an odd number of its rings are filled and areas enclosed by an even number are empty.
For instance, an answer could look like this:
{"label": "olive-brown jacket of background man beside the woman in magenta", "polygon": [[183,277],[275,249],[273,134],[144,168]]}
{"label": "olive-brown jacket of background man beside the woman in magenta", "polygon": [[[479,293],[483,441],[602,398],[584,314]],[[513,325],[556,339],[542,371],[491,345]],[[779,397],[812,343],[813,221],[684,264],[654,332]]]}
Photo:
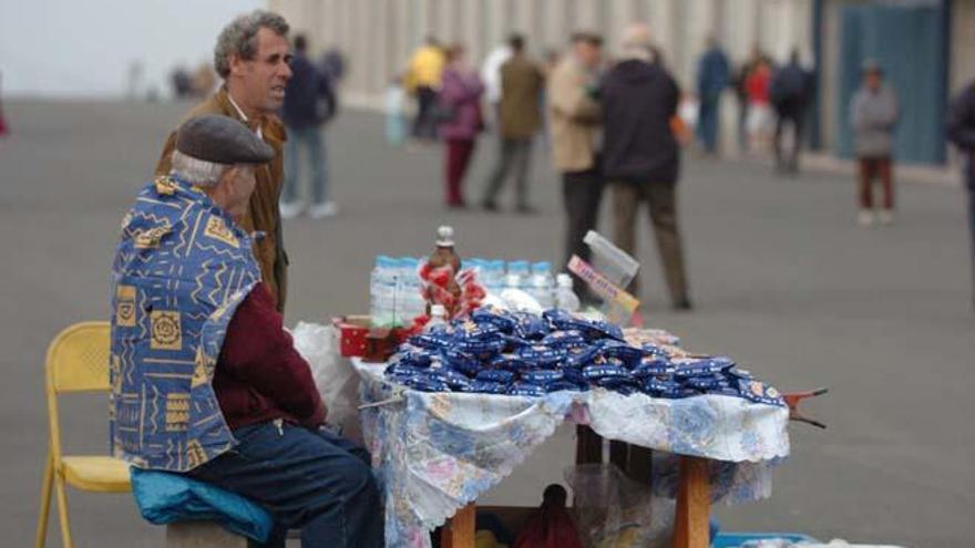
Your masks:
{"label": "olive-brown jacket of background man beside the woman in magenta", "polygon": [[544,84],[542,70],[524,56],[513,56],[501,65],[502,137],[531,138],[538,133]]}

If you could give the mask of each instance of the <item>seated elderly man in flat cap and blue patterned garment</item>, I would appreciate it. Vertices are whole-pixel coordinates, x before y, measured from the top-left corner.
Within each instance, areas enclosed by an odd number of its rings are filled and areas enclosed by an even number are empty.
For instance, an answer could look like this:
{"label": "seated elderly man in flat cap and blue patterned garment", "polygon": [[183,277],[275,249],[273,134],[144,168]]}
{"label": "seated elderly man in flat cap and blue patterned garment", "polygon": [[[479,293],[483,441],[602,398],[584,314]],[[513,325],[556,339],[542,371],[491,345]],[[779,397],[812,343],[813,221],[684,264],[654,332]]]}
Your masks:
{"label": "seated elderly man in flat cap and blue patterned garment", "polygon": [[326,407],[236,224],[271,148],[219,115],[179,128],[168,176],[122,223],[113,266],[111,440],[134,466],[238,493],[302,545],[382,546],[366,452]]}

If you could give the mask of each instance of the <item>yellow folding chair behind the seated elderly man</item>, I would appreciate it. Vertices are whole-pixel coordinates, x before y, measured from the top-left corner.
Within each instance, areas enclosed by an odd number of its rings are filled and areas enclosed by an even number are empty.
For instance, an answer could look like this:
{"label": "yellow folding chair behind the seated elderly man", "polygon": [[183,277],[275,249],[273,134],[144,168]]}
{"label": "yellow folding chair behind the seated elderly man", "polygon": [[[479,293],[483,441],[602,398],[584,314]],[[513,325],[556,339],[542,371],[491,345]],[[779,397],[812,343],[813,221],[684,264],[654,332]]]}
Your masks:
{"label": "yellow folding chair behind the seated elderly man", "polygon": [[68,498],[64,484],[99,493],[126,493],[129,464],[109,456],[68,456],[61,454],[61,428],[58,423],[58,395],[66,392],[107,392],[109,385],[109,323],[90,321],[75,323],[51,341],[44,364],[44,387],[48,394],[50,425],[48,458],[41,486],[41,511],[38,516],[37,548],[43,548],[48,536],[48,514],[51,507],[51,487],[58,495],[61,539],[71,548],[68,521]]}

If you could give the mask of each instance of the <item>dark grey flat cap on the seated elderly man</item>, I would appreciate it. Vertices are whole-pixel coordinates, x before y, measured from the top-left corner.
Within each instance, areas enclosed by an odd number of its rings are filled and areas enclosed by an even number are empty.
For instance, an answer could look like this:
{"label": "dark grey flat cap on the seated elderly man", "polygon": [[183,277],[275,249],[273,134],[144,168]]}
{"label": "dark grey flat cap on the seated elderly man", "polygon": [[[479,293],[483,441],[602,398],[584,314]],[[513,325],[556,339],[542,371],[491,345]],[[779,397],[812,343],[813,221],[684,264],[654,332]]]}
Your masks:
{"label": "dark grey flat cap on the seated elderly man", "polygon": [[243,123],[219,114],[194,116],[176,132],[176,149],[214,164],[264,164],[274,148]]}

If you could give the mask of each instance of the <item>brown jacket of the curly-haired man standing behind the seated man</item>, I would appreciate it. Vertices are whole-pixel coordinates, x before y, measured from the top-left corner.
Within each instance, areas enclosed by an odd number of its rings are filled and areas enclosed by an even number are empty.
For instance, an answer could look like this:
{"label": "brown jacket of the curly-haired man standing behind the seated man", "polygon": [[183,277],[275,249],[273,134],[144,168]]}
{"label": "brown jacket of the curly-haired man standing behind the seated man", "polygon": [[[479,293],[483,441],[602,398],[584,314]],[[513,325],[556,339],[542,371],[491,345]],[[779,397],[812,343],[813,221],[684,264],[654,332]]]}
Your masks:
{"label": "brown jacket of the curly-haired man standing behind the seated man", "polygon": [[[226,89],[222,89],[209,100],[196,105],[186,117],[189,118],[202,114],[223,114],[243,122],[237,110],[230,104]],[[258,265],[260,265],[261,278],[275,298],[275,306],[279,311],[284,311],[288,287],[288,257],[283,245],[278,197],[281,194],[281,185],[284,184],[283,158],[284,143],[287,141],[287,136],[285,134],[285,126],[277,116],[264,116],[259,123],[264,141],[274,148],[275,156],[270,163],[258,167],[255,172],[257,186],[254,188],[254,195],[250,196],[249,211],[240,220],[240,225],[247,231],[261,231],[265,234],[263,238],[255,239],[254,256],[257,258]],[[248,125],[256,127],[254,121],[250,121]],[[175,146],[176,132],[174,131],[170,134],[166,144],[163,146],[163,153],[160,156],[158,164],[156,164],[156,175],[170,173],[171,156]]]}

